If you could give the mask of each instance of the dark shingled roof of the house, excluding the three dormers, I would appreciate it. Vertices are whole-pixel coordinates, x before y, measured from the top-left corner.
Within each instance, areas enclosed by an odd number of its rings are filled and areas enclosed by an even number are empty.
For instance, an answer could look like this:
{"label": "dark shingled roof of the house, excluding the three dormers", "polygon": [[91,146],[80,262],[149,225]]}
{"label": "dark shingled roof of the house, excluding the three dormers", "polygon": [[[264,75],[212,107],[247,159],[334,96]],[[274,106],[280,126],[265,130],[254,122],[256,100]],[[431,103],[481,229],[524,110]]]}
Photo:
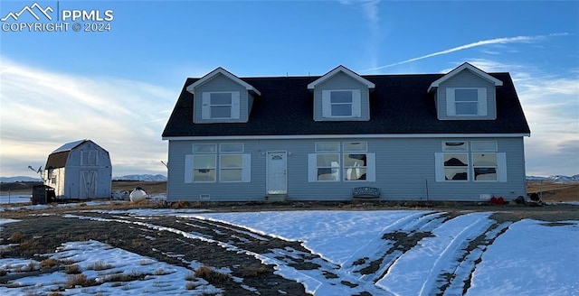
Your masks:
{"label": "dark shingled roof of the house, excluding the three dormers", "polygon": [[370,121],[313,120],[313,93],[308,83],[320,77],[241,78],[261,91],[247,123],[193,123],[193,97],[186,79],[163,137],[308,134],[530,134],[527,119],[508,73],[489,73],[497,87],[496,120],[439,120],[432,81],[443,74],[363,75],[375,83],[370,92]]}

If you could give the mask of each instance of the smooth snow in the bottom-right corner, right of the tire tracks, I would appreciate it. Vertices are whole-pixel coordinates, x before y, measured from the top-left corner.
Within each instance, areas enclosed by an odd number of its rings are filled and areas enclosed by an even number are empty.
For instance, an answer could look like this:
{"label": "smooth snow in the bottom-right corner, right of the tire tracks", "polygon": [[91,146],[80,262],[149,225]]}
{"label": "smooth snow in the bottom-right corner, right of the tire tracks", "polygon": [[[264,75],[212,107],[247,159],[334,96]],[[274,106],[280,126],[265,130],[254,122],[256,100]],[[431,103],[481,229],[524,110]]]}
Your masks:
{"label": "smooth snow in the bottom-right corner, right of the tire tracks", "polygon": [[468,295],[579,295],[579,222],[522,220],[499,236]]}

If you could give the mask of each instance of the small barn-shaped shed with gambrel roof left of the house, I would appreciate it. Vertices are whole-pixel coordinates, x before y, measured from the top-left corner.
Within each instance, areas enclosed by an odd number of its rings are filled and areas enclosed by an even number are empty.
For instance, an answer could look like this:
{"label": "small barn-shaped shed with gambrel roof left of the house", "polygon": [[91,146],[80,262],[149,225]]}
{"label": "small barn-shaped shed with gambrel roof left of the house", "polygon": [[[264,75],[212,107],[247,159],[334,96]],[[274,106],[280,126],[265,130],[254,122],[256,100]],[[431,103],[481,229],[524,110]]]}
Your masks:
{"label": "small barn-shaped shed with gambrel roof left of the house", "polygon": [[90,140],[65,143],[54,150],[43,171],[44,185],[57,199],[110,198],[109,152]]}

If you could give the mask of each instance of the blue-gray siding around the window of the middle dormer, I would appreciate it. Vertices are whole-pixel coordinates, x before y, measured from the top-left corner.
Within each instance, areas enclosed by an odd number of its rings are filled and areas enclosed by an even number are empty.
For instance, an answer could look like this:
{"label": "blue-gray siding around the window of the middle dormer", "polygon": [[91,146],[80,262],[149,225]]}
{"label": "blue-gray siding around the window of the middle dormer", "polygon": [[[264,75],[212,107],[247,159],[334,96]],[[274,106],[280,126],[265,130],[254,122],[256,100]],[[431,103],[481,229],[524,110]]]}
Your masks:
{"label": "blue-gray siding around the window of the middle dormer", "polygon": [[[360,117],[325,118],[322,116],[322,91],[337,89],[360,89]],[[370,120],[370,100],[368,88],[343,72],[337,73],[314,89],[314,120],[316,121],[367,121]]]}

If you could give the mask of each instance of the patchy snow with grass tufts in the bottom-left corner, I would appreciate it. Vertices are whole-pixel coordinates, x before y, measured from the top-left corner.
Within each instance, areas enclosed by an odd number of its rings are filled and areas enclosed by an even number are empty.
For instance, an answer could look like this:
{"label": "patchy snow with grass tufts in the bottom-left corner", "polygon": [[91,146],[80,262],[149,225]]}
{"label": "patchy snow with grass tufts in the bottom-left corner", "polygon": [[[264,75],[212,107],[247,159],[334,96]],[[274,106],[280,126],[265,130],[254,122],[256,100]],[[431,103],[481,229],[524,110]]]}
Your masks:
{"label": "patchy snow with grass tufts in the bottom-left corner", "polygon": [[[184,267],[158,262],[157,260],[113,248],[97,241],[71,242],[63,245],[57,253],[48,254],[50,258],[71,260],[77,264],[82,274],[88,279],[103,282],[97,286],[73,286],[66,290],[68,295],[181,295],[184,293],[203,294],[218,293],[221,290],[210,285],[204,279],[195,278],[192,272]],[[22,270],[29,264],[38,265],[36,261],[15,261],[0,259],[0,269],[9,273]],[[80,274],[80,273],[77,273]],[[41,295],[44,292],[58,291],[73,281],[75,274],[62,272],[43,273],[14,280],[12,285],[21,289],[0,286],[1,295]],[[121,278],[136,278],[138,281],[119,282]],[[185,280],[187,279],[187,280]],[[189,284],[187,289],[186,285]],[[195,287],[195,288],[194,288]]]}

